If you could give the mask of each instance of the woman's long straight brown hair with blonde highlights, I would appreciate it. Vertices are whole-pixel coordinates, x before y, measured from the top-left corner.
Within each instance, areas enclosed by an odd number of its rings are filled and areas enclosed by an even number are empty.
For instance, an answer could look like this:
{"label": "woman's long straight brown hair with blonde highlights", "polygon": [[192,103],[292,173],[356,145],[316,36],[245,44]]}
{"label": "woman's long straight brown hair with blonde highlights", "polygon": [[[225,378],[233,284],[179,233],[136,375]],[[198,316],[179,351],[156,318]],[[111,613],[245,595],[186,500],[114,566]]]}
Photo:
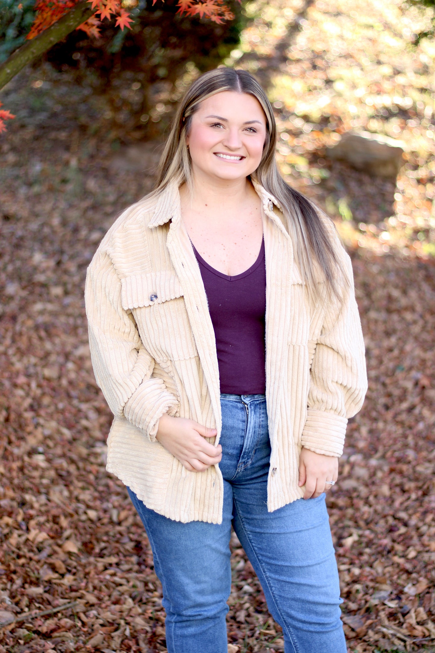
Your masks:
{"label": "woman's long straight brown hair with blonde highlights", "polygon": [[[262,105],[266,118],[266,138],[262,159],[251,177],[277,199],[293,240],[295,260],[308,291],[317,299],[321,295],[323,298],[331,295],[339,298],[343,283],[347,284],[337,252],[338,239],[333,236],[335,227],[313,202],[288,185],[280,175],[275,157],[277,123],[273,108],[250,72],[220,67],[203,73],[187,89],[160,157],[153,194],[160,193],[171,182],[178,185],[186,183],[192,189],[192,162],[187,148],[192,116],[203,100],[221,91],[248,93]],[[342,247],[341,244],[339,247]],[[324,283],[319,285],[320,279]]]}

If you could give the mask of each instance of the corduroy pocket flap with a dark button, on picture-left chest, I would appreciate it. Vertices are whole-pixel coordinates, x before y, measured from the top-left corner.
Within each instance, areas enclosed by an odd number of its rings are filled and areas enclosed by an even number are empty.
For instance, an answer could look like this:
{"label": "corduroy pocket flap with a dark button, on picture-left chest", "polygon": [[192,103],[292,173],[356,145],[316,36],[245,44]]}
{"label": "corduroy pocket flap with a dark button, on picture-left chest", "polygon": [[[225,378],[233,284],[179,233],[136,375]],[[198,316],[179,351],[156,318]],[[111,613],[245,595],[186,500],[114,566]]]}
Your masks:
{"label": "corduroy pocket flap with a dark button, on picture-left chest", "polygon": [[137,274],[121,279],[121,302],[124,310],[161,304],[182,295],[179,278],[172,270]]}

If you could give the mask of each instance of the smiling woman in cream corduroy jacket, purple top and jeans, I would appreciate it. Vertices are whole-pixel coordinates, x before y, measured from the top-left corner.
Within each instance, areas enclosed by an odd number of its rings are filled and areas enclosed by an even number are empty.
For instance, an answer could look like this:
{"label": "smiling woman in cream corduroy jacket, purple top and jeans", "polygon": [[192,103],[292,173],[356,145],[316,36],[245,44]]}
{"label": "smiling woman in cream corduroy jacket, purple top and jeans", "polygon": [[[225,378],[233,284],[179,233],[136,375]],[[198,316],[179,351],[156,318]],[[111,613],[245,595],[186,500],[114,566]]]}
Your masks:
{"label": "smiling woman in cream corduroy jacket, purple top and jeans", "polygon": [[345,653],[325,493],[366,390],[352,266],[282,180],[271,104],[245,71],[190,86],[157,187],[86,282],[95,376],[163,586],[170,653],[226,653],[230,532],[286,653]]}

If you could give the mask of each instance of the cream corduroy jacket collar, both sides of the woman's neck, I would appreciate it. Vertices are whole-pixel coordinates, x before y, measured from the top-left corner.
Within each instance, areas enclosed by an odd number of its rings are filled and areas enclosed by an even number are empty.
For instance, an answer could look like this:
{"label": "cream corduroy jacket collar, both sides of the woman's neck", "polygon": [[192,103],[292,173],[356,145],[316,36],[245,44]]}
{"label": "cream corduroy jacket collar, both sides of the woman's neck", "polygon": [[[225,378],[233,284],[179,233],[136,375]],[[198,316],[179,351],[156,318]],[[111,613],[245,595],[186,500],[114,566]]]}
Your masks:
{"label": "cream corduroy jacket collar, both sides of the woman's neck", "polygon": [[[288,236],[286,229],[282,223],[282,220],[278,217],[277,214],[273,211],[273,206],[277,206],[278,210],[281,210],[281,206],[271,193],[266,191],[263,186],[258,183],[255,179],[252,179],[252,185],[254,189],[262,200],[263,210],[266,215],[271,217],[273,221],[277,224],[281,231],[284,231]],[[171,219],[179,220],[181,215],[180,210],[180,194],[178,191],[178,184],[175,182],[169,183],[164,191],[160,193],[157,197],[157,202],[154,210],[153,217],[148,223],[148,227],[153,229],[153,227],[161,227],[166,224]]]}

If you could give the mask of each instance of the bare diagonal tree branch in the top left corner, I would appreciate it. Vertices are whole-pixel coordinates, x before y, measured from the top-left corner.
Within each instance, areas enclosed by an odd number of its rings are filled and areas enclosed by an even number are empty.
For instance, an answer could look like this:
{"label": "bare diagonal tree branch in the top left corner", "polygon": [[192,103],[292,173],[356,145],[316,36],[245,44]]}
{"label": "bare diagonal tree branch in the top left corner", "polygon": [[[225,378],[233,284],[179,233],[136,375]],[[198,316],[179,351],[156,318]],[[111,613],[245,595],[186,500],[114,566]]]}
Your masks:
{"label": "bare diagonal tree branch in the top left corner", "polygon": [[59,18],[34,39],[28,40],[15,50],[10,57],[0,65],[0,89],[5,86],[20,70],[36,59],[36,57],[50,50],[59,40],[65,38],[73,29],[85,22],[97,11],[91,8],[87,0],[82,0],[70,9],[65,16]]}

